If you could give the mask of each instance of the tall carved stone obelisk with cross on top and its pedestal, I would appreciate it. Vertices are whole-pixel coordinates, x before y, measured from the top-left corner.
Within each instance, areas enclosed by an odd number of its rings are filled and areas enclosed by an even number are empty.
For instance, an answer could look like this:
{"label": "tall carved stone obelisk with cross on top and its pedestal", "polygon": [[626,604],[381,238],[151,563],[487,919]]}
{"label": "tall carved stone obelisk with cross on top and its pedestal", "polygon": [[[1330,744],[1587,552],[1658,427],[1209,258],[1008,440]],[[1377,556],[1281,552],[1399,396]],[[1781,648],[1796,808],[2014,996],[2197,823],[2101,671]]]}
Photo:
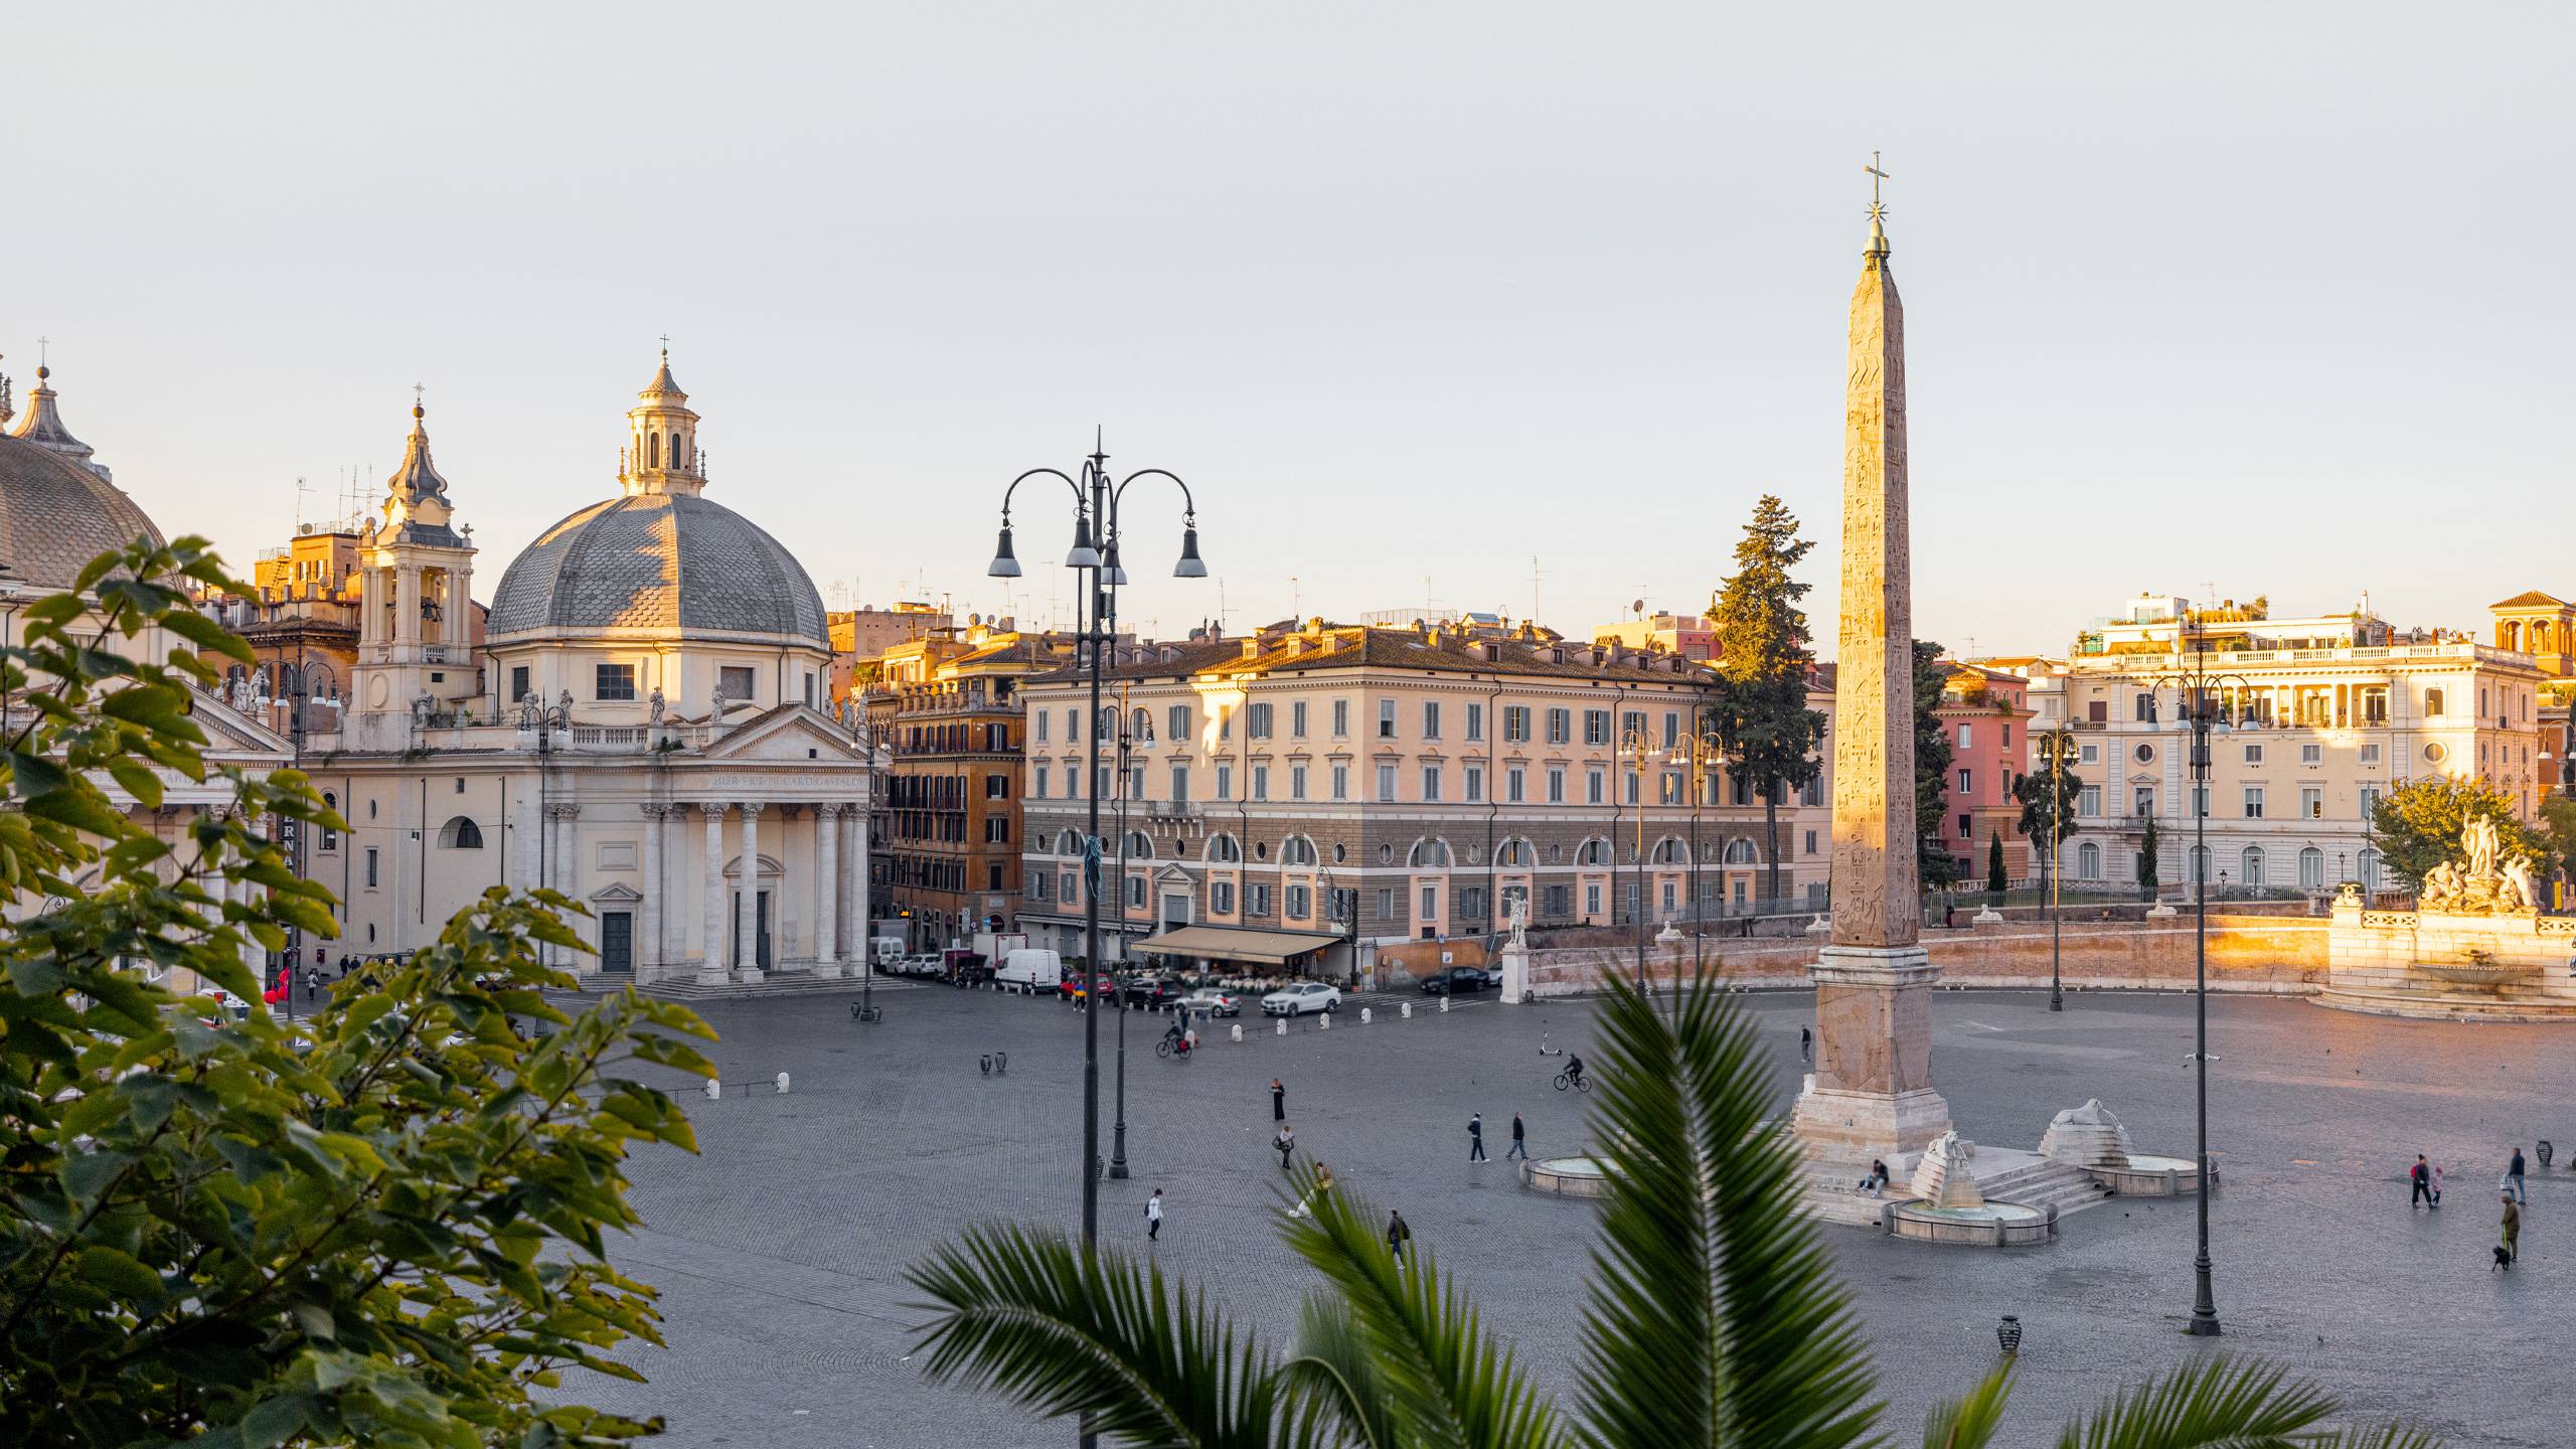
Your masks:
{"label": "tall carved stone obelisk with cross on top and its pedestal", "polygon": [[1927,993],[1940,972],[1917,941],[1906,312],[1875,180],[1844,382],[1837,670],[1834,936],[1808,972],[1816,1075],[1790,1124],[1811,1158],[1855,1168],[1883,1158],[1901,1176],[1950,1129],[1950,1104],[1932,1091]]}

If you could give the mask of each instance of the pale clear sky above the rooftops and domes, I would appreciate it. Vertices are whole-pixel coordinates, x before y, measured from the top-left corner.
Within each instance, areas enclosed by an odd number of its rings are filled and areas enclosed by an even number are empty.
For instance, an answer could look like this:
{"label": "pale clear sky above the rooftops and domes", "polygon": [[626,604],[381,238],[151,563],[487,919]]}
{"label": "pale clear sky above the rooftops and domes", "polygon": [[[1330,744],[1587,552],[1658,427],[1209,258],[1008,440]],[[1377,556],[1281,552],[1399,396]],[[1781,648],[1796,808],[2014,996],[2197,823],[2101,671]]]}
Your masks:
{"label": "pale clear sky above the rooftops and domes", "polygon": [[[2576,593],[2558,5],[44,5],[10,18],[0,369],[245,572],[428,384],[489,598],[616,490],[654,338],[827,603],[1698,608],[1819,539],[1886,152],[1917,632],[2138,590],[2483,624]],[[1430,583],[1425,583],[1430,580]]]}

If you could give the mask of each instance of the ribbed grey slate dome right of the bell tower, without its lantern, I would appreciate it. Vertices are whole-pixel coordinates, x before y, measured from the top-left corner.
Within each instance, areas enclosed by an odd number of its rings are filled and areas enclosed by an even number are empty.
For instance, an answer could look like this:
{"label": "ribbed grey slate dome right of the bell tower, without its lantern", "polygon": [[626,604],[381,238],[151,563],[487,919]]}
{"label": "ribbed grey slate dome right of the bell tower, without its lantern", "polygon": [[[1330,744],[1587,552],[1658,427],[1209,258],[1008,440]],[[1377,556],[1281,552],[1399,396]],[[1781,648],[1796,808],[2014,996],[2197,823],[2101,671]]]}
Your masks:
{"label": "ribbed grey slate dome right of the bell tower, without its lantern", "polygon": [[484,629],[495,642],[641,629],[832,650],[796,554],[696,492],[629,492],[546,529],[500,575]]}

